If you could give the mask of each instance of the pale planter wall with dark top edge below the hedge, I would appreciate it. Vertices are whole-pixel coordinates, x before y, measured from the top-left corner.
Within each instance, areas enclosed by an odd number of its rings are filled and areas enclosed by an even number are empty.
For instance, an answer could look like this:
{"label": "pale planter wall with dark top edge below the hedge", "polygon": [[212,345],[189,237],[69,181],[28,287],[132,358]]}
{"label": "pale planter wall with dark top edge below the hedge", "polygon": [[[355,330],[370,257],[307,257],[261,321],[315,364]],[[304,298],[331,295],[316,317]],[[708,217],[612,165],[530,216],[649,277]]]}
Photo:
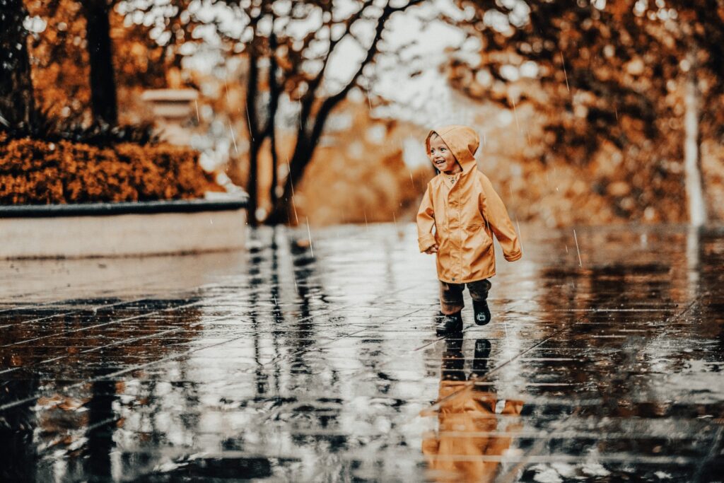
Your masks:
{"label": "pale planter wall with dark top edge below the hedge", "polygon": [[245,200],[3,206],[0,258],[83,258],[243,248]]}

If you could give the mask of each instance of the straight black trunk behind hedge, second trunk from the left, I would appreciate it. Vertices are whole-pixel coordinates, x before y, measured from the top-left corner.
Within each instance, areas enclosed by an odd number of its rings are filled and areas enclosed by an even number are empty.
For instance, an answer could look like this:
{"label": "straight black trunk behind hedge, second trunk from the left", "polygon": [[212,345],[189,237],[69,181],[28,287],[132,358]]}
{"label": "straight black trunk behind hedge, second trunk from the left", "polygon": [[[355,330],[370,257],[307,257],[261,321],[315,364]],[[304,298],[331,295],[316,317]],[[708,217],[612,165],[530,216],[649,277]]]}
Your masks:
{"label": "straight black trunk behind hedge, second trunk from the left", "polygon": [[118,123],[118,101],[113,70],[111,7],[106,0],[85,0],[85,35],[90,63],[90,105],[93,118],[109,125]]}

